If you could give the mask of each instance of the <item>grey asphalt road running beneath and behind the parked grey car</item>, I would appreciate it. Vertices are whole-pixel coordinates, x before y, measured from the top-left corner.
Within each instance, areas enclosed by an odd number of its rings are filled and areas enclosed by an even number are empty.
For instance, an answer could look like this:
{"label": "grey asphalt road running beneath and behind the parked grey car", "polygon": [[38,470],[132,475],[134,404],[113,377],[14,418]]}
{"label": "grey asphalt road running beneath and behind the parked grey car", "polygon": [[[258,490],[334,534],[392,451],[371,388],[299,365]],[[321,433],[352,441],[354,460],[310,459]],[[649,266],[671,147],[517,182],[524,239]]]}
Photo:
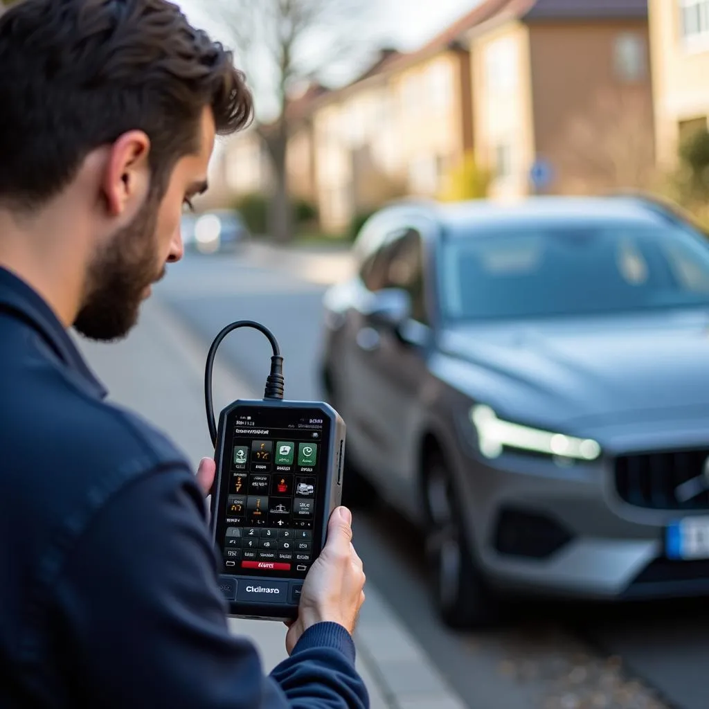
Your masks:
{"label": "grey asphalt road running beneath and behind the parked grey car", "polygon": [[[333,264],[307,254],[294,262],[278,252],[193,255],[170,267],[156,295],[203,340],[205,350],[233,320],[264,323],[277,334],[285,357],[286,397],[319,398],[320,300]],[[260,396],[270,354],[262,335],[240,330],[223,342],[219,359]],[[471,708],[709,705],[709,603],[683,610],[676,603],[630,609],[528,604],[509,627],[454,634],[432,613],[420,535],[384,506],[357,515],[355,535],[368,582]],[[649,688],[661,701],[647,698]]]}

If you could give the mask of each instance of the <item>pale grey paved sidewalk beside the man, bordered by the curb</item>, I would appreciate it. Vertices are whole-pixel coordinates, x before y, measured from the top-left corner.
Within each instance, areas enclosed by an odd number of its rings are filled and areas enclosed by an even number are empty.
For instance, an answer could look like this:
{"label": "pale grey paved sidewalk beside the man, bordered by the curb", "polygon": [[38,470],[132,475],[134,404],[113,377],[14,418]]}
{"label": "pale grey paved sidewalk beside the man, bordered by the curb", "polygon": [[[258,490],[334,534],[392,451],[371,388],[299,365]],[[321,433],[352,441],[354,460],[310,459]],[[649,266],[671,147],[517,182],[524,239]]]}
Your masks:
{"label": "pale grey paved sidewalk beside the man, bordered by the curb", "polygon": [[[113,345],[79,340],[79,347],[113,401],[166,430],[194,469],[199,459],[213,454],[203,403],[208,345],[196,340],[156,298],[144,304],[140,325],[128,340]],[[220,366],[219,357],[213,391],[217,415],[235,398],[260,396]],[[366,591],[355,642],[357,668],[369,688],[372,709],[464,709],[376,588],[368,585]],[[285,659],[281,624],[231,619],[230,627],[257,644],[266,671]]]}

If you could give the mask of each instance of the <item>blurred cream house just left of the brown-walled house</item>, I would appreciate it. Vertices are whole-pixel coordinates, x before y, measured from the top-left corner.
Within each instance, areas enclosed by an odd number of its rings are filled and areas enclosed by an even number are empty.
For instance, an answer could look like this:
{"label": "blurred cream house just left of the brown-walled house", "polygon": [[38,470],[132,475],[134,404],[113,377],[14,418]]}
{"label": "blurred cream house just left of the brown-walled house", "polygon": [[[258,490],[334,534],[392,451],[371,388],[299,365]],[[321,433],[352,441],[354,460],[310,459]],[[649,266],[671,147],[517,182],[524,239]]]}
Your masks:
{"label": "blurred cream house just left of the brown-walled house", "polygon": [[318,203],[323,229],[403,194],[435,196],[447,170],[472,147],[467,48],[450,30],[416,52],[384,50],[315,112]]}

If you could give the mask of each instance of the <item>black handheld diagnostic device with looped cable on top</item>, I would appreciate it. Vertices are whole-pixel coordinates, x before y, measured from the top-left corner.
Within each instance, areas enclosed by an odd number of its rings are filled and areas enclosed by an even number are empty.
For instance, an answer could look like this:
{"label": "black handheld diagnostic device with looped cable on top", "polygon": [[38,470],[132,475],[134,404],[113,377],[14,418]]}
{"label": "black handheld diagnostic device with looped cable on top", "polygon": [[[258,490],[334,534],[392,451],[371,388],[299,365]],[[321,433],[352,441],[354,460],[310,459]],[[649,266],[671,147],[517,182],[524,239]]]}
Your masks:
{"label": "black handheld diagnostic device with looped cable on top", "polygon": [[[225,335],[255,328],[273,349],[264,398],[233,401],[215,424],[212,368]],[[224,328],[207,357],[205,403],[216,479],[211,529],[219,585],[238,618],[290,620],[342,499],[345,423],[328,403],[284,401],[283,357],[272,333],[241,320]]]}

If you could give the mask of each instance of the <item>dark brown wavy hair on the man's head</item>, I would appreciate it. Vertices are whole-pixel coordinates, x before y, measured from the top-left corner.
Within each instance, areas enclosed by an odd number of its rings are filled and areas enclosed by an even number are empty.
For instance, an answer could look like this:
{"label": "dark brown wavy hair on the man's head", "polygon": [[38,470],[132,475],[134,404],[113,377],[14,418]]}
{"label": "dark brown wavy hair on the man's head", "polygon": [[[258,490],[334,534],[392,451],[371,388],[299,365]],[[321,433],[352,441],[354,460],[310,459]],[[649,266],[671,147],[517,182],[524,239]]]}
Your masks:
{"label": "dark brown wavy hair on the man's head", "polygon": [[0,202],[32,209],[89,152],[128,130],[150,137],[153,190],[217,133],[252,117],[232,55],[166,0],[22,0],[0,16]]}

